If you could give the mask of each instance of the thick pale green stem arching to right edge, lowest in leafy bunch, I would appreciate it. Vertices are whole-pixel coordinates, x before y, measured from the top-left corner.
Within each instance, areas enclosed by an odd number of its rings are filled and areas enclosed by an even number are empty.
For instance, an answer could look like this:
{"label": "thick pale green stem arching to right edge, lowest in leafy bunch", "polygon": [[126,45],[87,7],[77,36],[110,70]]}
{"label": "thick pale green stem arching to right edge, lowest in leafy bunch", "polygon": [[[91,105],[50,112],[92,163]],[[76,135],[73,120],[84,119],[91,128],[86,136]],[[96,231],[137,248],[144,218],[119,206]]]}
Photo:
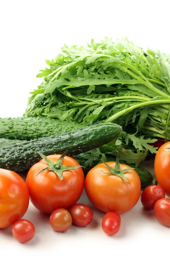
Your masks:
{"label": "thick pale green stem arching to right edge, lowest in leafy bunch", "polygon": [[130,111],[133,111],[136,108],[141,108],[141,107],[146,107],[146,106],[150,106],[150,105],[154,105],[154,104],[164,104],[164,103],[169,103],[170,104],[170,100],[169,99],[161,99],[161,100],[153,100],[153,101],[149,101],[149,102],[142,102],[136,105],[133,105],[129,108],[123,109],[122,111],[119,111],[118,113],[115,113],[113,116],[110,116],[108,119],[105,120],[105,122],[112,122],[115,119],[117,119],[118,117],[127,114]]}

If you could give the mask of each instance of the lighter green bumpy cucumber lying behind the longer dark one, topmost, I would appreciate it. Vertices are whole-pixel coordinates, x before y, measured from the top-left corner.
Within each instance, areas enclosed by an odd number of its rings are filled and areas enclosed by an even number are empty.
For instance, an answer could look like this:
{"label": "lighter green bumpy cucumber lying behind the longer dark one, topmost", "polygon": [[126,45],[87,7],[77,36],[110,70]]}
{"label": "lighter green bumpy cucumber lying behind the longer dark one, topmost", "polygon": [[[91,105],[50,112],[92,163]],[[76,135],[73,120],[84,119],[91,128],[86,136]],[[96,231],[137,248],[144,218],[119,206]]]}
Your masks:
{"label": "lighter green bumpy cucumber lying behind the longer dark one, topmost", "polygon": [[34,140],[78,130],[85,125],[43,117],[0,118],[0,138]]}

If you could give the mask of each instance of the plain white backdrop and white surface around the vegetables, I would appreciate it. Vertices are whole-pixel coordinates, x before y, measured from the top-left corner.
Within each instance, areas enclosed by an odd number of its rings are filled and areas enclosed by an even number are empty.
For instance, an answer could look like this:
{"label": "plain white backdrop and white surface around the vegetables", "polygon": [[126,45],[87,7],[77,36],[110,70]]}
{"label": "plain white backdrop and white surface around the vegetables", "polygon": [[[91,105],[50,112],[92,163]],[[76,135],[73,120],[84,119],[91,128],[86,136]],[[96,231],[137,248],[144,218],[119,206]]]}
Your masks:
{"label": "plain white backdrop and white surface around the vegetables", "polygon": [[[36,89],[45,59],[54,58],[64,43],[86,44],[92,38],[127,36],[134,44],[170,53],[169,1],[0,1],[0,116],[22,116],[28,93]],[[145,166],[153,163],[145,163]],[[85,194],[80,202],[89,204]],[[144,212],[140,201],[122,215],[118,234],[109,237],[101,229],[103,213],[94,210],[94,221],[87,228],[71,227],[55,233],[48,218],[31,204],[24,218],[33,221],[36,235],[19,244],[11,229],[0,230],[0,249],[16,251],[55,250],[84,255],[140,255],[162,252],[169,247],[170,229],[161,226],[153,212]],[[39,251],[40,253],[40,251]],[[23,254],[23,253],[22,253]],[[52,254],[51,254],[52,255]]]}

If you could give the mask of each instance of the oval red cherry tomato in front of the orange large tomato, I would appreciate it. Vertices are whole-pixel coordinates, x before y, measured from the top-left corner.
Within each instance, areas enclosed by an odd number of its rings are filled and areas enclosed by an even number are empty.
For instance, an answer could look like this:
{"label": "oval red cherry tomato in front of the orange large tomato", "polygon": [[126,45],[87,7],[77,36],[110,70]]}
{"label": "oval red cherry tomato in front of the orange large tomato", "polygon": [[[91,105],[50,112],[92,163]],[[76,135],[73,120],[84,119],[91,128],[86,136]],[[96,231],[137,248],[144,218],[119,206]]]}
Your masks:
{"label": "oval red cherry tomato in front of the orange large tomato", "polygon": [[107,212],[102,220],[102,230],[109,236],[116,234],[121,225],[121,218],[117,212]]}

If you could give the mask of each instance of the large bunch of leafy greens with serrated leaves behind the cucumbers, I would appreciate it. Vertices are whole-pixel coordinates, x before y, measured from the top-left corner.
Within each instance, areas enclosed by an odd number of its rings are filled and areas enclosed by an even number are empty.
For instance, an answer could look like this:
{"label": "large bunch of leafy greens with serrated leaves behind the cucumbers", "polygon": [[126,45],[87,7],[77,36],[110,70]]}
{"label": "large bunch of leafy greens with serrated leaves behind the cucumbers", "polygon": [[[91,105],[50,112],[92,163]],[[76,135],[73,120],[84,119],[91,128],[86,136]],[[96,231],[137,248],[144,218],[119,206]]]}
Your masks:
{"label": "large bunch of leafy greens with serrated leaves behind the cucumbers", "polygon": [[122,145],[109,145],[108,152],[115,155],[118,150],[120,159],[136,165],[148,151],[156,153],[148,143],[170,140],[170,55],[144,51],[127,38],[115,43],[105,38],[86,46],[65,45],[62,54],[46,64],[37,75],[44,79],[31,93],[25,116],[89,125],[115,122],[127,134]]}

